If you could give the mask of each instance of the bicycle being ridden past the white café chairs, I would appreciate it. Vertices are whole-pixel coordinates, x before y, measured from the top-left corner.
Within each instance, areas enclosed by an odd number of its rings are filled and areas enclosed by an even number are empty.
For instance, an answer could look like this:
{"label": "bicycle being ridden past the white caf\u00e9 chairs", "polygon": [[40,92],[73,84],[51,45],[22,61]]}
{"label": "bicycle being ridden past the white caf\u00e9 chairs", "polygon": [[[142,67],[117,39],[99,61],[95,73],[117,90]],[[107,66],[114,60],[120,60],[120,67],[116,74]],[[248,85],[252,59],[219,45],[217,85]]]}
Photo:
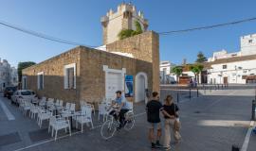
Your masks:
{"label": "bicycle being ridden past the white caf\u00e9 chairs", "polygon": [[[135,125],[134,112],[132,110],[129,110],[124,114],[124,117],[125,117],[125,120],[124,120],[123,128],[126,131],[129,131]],[[115,119],[115,117],[113,115],[108,115],[106,122],[104,122],[104,124],[101,126],[101,137],[104,140],[111,139],[115,135],[115,133],[119,127],[119,124],[120,124],[119,118]]]}

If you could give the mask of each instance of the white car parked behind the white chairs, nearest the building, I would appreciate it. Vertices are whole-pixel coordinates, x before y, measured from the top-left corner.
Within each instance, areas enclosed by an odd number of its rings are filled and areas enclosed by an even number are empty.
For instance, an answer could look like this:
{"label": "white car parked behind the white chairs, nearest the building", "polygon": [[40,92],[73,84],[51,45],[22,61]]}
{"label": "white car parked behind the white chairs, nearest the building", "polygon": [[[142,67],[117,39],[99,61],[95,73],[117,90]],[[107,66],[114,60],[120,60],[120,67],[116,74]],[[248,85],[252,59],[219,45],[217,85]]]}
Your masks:
{"label": "white car parked behind the white chairs, nearest the building", "polygon": [[13,93],[11,96],[11,103],[18,105],[19,99],[32,100],[35,97],[35,92],[30,90],[19,90]]}

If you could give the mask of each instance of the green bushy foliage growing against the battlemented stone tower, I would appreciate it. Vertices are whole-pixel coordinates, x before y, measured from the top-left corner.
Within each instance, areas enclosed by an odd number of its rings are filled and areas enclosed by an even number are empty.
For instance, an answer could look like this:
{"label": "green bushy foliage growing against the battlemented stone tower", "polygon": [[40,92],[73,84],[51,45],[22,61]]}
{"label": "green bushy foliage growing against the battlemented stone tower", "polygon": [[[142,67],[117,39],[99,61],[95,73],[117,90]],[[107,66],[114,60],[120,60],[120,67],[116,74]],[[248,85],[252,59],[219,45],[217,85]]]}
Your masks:
{"label": "green bushy foliage growing against the battlemented stone tower", "polygon": [[123,40],[123,39],[126,39],[128,37],[132,37],[132,36],[135,36],[135,35],[138,35],[138,34],[141,34],[142,33],[142,28],[141,28],[141,25],[136,21],[135,22],[135,26],[136,26],[136,30],[132,30],[132,29],[122,29],[120,32],[119,32],[119,40]]}

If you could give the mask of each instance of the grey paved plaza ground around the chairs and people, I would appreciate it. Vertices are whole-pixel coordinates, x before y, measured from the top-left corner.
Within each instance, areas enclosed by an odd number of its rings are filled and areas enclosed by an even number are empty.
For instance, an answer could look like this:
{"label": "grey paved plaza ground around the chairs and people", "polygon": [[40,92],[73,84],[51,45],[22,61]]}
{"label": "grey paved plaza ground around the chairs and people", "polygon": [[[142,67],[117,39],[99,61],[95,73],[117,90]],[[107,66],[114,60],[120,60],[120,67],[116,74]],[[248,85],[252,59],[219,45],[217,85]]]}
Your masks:
{"label": "grey paved plaza ground around the chairs and people", "polygon": [[[161,100],[169,93],[179,92],[180,119],[182,123],[181,143],[172,143],[175,151],[228,151],[232,144],[242,148],[250,125],[251,100],[254,86],[230,86],[223,90],[192,92],[174,91],[163,88]],[[109,140],[101,139],[101,124],[97,113],[94,129],[86,128],[83,133],[74,130],[71,137],[60,132],[56,142],[47,133],[46,123],[40,129],[35,120],[23,116],[20,110],[10,105],[9,100],[0,97],[0,150],[1,151],[147,151],[151,150],[147,140],[145,104],[135,104],[136,126],[129,132],[120,131]],[[4,107],[5,106],[5,107]],[[7,108],[7,109],[5,109]],[[7,113],[7,110],[9,112]],[[14,120],[10,119],[14,116]],[[251,134],[247,151],[254,151],[256,135]]]}

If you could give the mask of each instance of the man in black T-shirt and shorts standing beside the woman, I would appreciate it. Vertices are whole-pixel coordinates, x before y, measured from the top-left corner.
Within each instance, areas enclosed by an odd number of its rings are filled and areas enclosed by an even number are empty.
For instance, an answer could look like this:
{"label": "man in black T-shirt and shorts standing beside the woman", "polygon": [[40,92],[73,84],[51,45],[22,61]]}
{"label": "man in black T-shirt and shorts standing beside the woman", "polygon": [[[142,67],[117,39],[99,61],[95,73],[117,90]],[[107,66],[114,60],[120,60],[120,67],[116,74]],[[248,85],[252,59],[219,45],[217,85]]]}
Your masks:
{"label": "man in black T-shirt and shorts standing beside the woman", "polygon": [[[153,98],[151,101],[147,103],[146,110],[147,110],[147,119],[148,119],[148,126],[149,126],[149,140],[151,142],[151,147],[160,147],[160,137],[161,137],[161,121],[159,112],[163,111],[162,104],[159,102],[159,95],[158,92],[152,93]],[[157,134],[155,136],[155,129],[157,130]]]}

